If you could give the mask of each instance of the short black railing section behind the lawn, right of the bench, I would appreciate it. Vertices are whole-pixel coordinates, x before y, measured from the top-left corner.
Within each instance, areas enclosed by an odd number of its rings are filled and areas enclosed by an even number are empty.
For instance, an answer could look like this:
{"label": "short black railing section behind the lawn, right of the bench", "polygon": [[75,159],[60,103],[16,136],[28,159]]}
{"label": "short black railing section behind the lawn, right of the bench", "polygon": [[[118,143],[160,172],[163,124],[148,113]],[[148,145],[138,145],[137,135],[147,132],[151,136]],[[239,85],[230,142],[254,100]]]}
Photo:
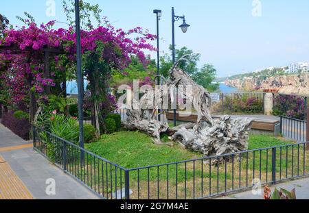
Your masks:
{"label": "short black railing section behind the lawn, right of the bench", "polygon": [[286,116],[280,116],[281,134],[284,138],[306,142],[307,122]]}

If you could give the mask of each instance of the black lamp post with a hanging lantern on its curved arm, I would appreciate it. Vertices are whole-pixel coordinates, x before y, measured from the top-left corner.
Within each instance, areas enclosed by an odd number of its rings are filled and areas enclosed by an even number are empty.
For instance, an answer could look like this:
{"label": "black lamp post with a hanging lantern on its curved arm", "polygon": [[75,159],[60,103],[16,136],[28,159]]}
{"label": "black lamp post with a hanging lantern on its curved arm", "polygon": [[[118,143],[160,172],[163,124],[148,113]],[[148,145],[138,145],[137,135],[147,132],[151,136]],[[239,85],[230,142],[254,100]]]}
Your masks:
{"label": "black lamp post with a hanging lantern on its curved arm", "polygon": [[[182,32],[185,34],[187,32],[187,27],[190,27],[185,23],[185,16],[175,16],[174,8],[172,8],[172,62],[176,62],[176,53],[175,53],[175,22],[183,20],[183,24],[180,25]],[[176,100],[175,100],[176,99]],[[174,101],[177,101],[176,94],[174,94]],[[176,127],[176,109],[174,109],[174,127]]]}

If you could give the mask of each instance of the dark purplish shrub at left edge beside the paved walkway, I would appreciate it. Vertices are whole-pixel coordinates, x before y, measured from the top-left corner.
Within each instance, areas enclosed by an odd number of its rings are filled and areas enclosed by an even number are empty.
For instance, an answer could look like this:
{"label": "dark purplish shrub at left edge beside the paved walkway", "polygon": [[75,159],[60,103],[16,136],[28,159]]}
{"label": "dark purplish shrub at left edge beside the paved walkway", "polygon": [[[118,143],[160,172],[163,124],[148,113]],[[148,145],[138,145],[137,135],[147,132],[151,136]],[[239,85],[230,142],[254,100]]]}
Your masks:
{"label": "dark purplish shrub at left edge beside the paved walkway", "polygon": [[26,118],[16,118],[13,112],[3,113],[1,123],[24,140],[30,139],[30,122]]}

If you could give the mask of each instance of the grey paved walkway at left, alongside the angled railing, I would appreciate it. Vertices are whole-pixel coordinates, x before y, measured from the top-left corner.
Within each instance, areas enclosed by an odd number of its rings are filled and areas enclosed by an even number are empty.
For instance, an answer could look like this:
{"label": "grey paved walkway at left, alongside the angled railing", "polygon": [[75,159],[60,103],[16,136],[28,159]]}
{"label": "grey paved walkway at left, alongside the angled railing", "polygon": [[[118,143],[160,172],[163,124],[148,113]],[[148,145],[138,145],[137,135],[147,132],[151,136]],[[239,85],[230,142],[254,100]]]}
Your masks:
{"label": "grey paved walkway at left, alongside the angled railing", "polygon": [[[93,192],[63,173],[60,168],[51,164],[29,146],[31,146],[29,142],[15,136],[9,129],[0,124],[0,155],[3,158],[2,162],[10,166],[13,172],[11,175],[19,177],[27,192],[34,199],[98,199]],[[4,173],[1,167],[0,173]],[[47,195],[46,189],[49,186],[46,184],[47,179],[55,180],[56,195]],[[3,183],[4,181],[1,181],[0,186]],[[8,192],[4,195],[4,190],[0,188],[0,193],[2,197],[5,197]],[[11,190],[10,193],[20,192]]]}

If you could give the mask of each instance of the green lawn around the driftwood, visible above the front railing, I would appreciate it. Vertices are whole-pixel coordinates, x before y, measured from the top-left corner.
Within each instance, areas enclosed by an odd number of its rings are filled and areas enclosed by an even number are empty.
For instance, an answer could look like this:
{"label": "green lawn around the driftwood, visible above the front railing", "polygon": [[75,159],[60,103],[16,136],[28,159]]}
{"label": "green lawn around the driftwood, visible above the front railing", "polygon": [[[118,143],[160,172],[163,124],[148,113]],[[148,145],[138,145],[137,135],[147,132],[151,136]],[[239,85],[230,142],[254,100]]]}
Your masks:
{"label": "green lawn around the driftwood, visible above the front railing", "polygon": [[[166,136],[163,141],[167,142]],[[252,135],[249,149],[260,149],[293,143],[271,136]],[[119,131],[103,135],[98,142],[86,145],[86,149],[125,168],[137,168],[201,158],[201,153],[183,149],[180,145],[173,147],[155,145],[151,138],[139,131]]]}

